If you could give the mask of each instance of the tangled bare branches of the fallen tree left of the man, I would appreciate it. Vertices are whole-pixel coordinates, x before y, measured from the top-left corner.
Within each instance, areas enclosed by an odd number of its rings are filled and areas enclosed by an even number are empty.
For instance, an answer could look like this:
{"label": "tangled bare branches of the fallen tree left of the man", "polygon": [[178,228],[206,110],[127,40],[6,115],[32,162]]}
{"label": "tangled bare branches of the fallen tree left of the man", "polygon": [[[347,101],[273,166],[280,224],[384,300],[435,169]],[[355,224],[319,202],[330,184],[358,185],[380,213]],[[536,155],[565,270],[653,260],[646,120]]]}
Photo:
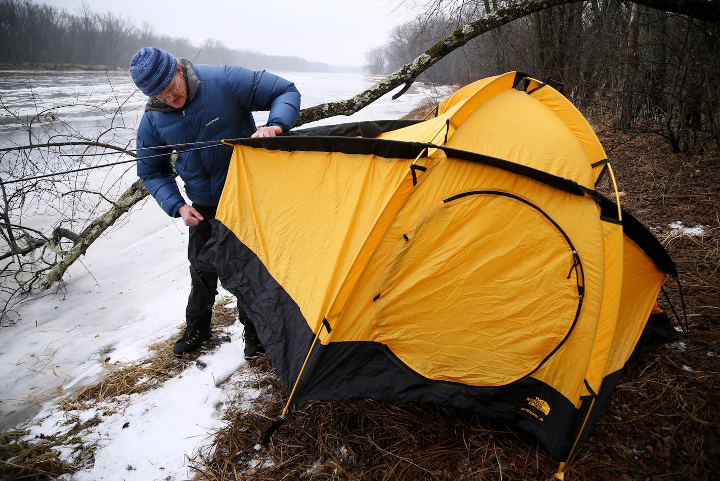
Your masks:
{"label": "tangled bare branches of the fallen tree left of the man", "polygon": [[[73,255],[78,259],[83,246],[112,225],[97,228],[107,212],[127,212],[147,195],[139,181],[127,189],[135,180],[134,169],[123,178],[131,164],[113,172],[96,170],[100,158],[84,156],[125,150],[134,137],[130,118],[122,117],[130,99],[112,84],[106,90],[100,99],[88,94],[67,105],[46,105],[32,94],[37,112],[30,117],[6,106],[0,94],[0,117],[9,132],[15,131],[15,145],[0,148],[0,325],[17,318],[14,305],[42,289],[56,265]],[[101,129],[87,135],[66,122],[68,112],[83,115],[78,111],[104,117]],[[77,156],[63,157],[69,153]]]}

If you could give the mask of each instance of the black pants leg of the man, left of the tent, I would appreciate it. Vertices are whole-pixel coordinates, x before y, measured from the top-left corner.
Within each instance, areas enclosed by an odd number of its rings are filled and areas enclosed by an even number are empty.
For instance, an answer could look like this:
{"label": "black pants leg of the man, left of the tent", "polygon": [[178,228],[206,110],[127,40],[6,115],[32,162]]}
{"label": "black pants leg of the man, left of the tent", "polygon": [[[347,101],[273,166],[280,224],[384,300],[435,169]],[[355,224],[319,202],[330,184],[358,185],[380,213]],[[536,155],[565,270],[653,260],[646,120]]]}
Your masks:
{"label": "black pants leg of the man, left of the tent", "polygon": [[195,261],[205,243],[210,240],[212,235],[210,220],[215,219],[217,207],[198,204],[192,204],[192,207],[195,207],[204,219],[199,225],[189,227],[187,259],[190,261],[191,289],[185,309],[185,320],[189,328],[207,331],[210,329],[212,306],[215,305],[217,295],[217,274],[212,271],[200,271],[195,267]]}

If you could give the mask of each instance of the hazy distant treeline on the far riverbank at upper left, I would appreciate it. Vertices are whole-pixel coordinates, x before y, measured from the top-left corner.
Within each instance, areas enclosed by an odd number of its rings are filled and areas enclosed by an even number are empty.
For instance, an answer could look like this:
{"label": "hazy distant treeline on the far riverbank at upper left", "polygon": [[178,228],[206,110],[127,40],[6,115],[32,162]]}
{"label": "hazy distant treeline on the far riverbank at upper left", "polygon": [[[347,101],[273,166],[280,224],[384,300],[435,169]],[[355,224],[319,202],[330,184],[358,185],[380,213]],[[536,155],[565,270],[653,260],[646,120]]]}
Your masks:
{"label": "hazy distant treeline on the far riverbank at upper left", "polygon": [[[197,63],[220,63],[284,71],[348,71],[251,50],[233,50],[217,40],[194,45],[184,38],[158,35],[150,24],[137,27],[110,12],[96,14],[87,4],[78,13],[30,0],[0,0],[0,63],[44,68],[128,68],[140,48],[156,46]],[[356,71],[359,69],[355,69]]]}

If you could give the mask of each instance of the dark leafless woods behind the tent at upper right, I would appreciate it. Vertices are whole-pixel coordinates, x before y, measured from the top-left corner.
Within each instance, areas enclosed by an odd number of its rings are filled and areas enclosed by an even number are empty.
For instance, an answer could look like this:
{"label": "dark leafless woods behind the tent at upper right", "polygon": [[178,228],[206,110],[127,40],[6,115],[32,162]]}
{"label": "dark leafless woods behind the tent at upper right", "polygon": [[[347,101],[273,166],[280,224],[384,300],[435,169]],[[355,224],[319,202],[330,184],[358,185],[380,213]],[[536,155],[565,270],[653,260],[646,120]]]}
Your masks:
{"label": "dark leafless woods behind the tent at upper right", "polygon": [[[412,3],[427,12],[422,20],[395,30],[400,38],[387,44],[390,60],[405,49],[403,42],[440,31],[433,22],[454,27],[453,22],[465,19],[463,12],[475,12],[481,5],[497,5],[492,16],[505,17],[533,2]],[[587,0],[546,6],[552,8],[492,27],[490,35],[469,40],[426,72],[441,68],[444,81],[462,85],[496,73],[525,71],[560,89],[608,127],[654,132],[675,152],[719,143],[714,78],[720,73],[720,4]]]}

